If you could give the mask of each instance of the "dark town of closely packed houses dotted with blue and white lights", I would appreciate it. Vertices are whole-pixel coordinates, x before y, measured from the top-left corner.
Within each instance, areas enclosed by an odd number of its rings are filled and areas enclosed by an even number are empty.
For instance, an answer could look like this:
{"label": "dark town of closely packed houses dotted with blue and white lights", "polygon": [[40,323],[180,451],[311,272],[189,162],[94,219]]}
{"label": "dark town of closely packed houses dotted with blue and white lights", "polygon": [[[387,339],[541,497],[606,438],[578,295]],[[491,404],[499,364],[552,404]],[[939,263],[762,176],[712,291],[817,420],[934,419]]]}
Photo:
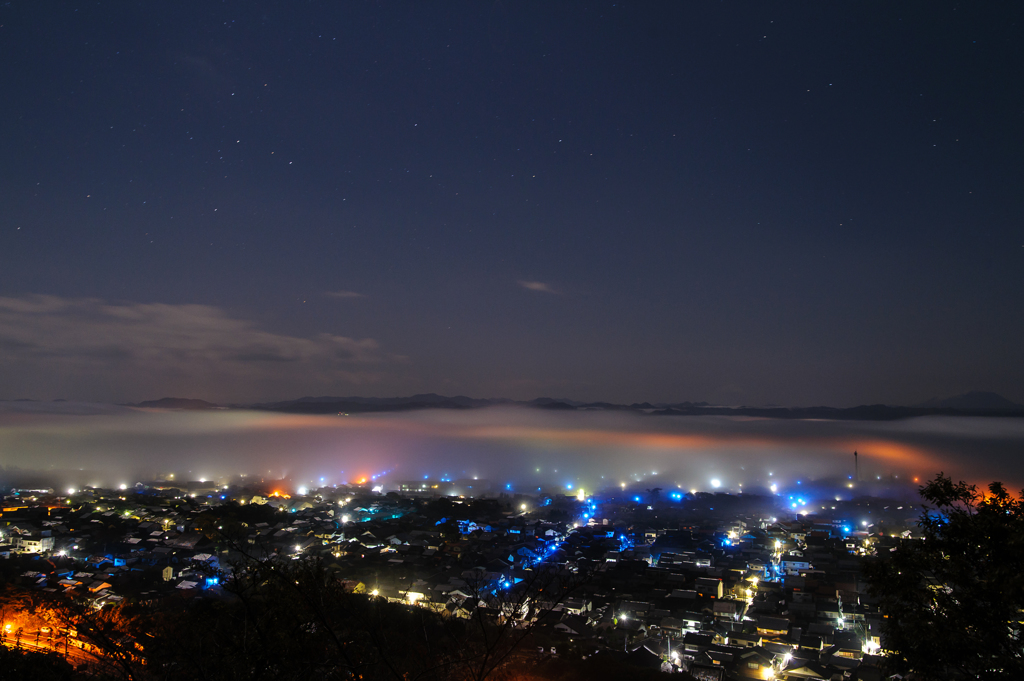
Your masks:
{"label": "dark town of closely packed houses dotted with blue and white lights", "polygon": [[[888,508],[860,503],[861,515]],[[245,556],[321,555],[352,591],[470,616],[543,566],[574,586],[535,599],[520,623],[531,654],[714,680],[881,678],[883,615],[860,568],[912,529],[851,531],[857,518],[835,512],[780,518],[769,498],[725,494],[669,503],[168,487],[18,492],[2,509],[10,560],[0,569],[16,564],[23,587],[97,606],[223,598]]]}

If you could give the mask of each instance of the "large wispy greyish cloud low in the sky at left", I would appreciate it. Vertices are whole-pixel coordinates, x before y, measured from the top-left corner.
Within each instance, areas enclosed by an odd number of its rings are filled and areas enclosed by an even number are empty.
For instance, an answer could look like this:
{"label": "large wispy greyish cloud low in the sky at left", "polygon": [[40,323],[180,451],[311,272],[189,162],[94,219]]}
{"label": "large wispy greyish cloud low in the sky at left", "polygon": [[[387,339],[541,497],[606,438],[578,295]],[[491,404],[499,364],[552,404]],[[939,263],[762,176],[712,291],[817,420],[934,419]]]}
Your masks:
{"label": "large wispy greyish cloud low in the sky at left", "polygon": [[245,399],[373,383],[394,359],[371,338],[272,333],[210,305],[0,297],[0,396]]}

